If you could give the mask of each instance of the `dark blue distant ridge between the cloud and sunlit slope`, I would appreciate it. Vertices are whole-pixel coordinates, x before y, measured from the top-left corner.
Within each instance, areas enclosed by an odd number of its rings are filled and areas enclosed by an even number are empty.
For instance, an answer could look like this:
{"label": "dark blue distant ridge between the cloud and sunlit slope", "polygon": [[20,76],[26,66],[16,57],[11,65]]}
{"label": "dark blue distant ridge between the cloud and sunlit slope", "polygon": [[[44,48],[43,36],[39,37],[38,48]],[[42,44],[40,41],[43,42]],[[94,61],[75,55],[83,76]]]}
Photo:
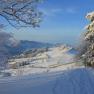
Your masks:
{"label": "dark blue distant ridge between the cloud and sunlit slope", "polygon": [[31,49],[37,49],[37,48],[47,48],[52,47],[52,44],[49,43],[42,43],[37,41],[28,41],[28,40],[21,40],[19,44],[15,47],[6,45],[6,49],[9,51],[12,55],[21,54],[24,51],[31,50]]}

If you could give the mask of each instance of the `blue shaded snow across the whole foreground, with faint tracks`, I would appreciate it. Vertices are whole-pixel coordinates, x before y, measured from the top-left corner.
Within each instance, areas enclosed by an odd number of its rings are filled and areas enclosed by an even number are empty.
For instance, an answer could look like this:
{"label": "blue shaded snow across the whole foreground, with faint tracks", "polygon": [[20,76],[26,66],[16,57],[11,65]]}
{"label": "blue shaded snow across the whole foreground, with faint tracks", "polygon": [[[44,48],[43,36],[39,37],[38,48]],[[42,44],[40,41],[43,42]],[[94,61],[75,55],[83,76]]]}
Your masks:
{"label": "blue shaded snow across the whole foreground, with faint tracks", "polygon": [[94,72],[75,69],[0,80],[0,94],[94,94]]}

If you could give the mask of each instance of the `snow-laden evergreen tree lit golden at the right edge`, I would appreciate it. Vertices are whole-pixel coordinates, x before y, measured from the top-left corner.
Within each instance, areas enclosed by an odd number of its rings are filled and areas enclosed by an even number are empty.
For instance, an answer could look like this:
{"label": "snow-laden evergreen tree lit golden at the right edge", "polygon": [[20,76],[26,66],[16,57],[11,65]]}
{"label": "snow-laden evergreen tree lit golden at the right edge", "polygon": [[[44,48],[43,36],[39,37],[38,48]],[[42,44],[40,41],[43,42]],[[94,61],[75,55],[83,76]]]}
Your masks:
{"label": "snow-laden evergreen tree lit golden at the right edge", "polygon": [[86,66],[94,67],[94,12],[88,13],[86,18],[90,24],[86,26],[87,32],[84,34],[82,59]]}

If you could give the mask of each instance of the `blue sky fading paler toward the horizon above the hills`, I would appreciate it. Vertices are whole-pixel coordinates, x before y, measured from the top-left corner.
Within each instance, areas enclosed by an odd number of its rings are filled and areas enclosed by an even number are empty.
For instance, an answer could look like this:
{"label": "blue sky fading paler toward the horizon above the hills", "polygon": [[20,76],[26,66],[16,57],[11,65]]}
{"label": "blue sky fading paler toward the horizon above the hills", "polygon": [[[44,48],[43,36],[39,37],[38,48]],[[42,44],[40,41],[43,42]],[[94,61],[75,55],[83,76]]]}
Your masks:
{"label": "blue sky fading paler toward the horizon above the hills", "polygon": [[89,24],[85,16],[94,11],[94,0],[44,0],[39,9],[44,14],[39,28],[9,26],[6,31],[18,40],[76,45]]}

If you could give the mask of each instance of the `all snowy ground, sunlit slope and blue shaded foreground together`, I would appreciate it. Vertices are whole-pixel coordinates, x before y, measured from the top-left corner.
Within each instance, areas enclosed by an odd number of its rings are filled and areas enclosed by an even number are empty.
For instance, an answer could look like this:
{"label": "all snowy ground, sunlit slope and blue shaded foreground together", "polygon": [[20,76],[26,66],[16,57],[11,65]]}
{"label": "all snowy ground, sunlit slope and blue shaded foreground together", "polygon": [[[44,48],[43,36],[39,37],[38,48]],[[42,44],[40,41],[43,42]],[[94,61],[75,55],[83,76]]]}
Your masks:
{"label": "all snowy ground, sunlit slope and blue shaded foreground together", "polygon": [[69,50],[51,48],[30,65],[2,71],[12,76],[0,78],[0,94],[94,94],[94,70],[73,62]]}

